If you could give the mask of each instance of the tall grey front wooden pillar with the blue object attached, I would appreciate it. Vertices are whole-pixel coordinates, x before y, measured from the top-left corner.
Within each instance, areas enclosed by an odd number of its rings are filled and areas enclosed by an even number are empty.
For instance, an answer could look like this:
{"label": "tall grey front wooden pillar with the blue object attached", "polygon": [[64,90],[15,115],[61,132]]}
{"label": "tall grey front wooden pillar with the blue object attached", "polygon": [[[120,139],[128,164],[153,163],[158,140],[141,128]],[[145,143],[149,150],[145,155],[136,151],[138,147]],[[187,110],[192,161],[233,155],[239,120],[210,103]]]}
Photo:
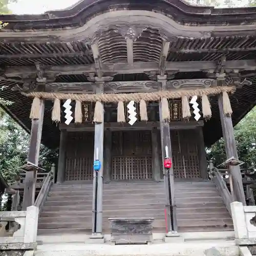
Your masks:
{"label": "tall grey front wooden pillar with the blue object attached", "polygon": [[[97,82],[96,93],[103,92],[102,82]],[[102,104],[102,103],[101,103]],[[102,116],[104,111],[102,107]],[[101,168],[98,172],[93,172],[93,227],[92,238],[103,238],[102,236],[102,194],[103,194],[103,138],[104,138],[104,120],[102,123],[95,123],[94,132],[94,160],[101,162]]]}

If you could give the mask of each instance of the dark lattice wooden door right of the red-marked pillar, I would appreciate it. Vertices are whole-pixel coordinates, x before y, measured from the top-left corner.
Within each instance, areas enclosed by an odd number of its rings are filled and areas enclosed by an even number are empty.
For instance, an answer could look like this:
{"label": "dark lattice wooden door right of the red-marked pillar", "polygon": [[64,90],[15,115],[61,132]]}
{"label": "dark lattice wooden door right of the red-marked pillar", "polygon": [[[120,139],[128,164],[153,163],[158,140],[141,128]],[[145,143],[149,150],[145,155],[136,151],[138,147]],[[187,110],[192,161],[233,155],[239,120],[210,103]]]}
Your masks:
{"label": "dark lattice wooden door right of the red-marked pillar", "polygon": [[197,136],[196,130],[170,131],[175,178],[200,178]]}

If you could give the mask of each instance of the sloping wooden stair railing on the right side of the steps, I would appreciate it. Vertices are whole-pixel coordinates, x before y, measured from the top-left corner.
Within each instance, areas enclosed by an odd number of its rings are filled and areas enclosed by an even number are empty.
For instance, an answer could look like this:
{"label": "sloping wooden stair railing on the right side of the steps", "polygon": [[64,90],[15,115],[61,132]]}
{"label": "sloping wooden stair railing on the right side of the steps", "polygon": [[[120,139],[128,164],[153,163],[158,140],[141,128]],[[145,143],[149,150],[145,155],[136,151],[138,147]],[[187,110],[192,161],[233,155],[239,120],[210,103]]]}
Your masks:
{"label": "sloping wooden stair railing on the right side of the steps", "polygon": [[223,180],[223,175],[219,172],[219,170],[213,166],[212,161],[210,162],[210,170],[211,170],[211,178],[214,181],[223,201],[226,205],[226,208],[231,216],[231,208],[230,204],[233,202],[231,193],[229,192],[226,182]]}

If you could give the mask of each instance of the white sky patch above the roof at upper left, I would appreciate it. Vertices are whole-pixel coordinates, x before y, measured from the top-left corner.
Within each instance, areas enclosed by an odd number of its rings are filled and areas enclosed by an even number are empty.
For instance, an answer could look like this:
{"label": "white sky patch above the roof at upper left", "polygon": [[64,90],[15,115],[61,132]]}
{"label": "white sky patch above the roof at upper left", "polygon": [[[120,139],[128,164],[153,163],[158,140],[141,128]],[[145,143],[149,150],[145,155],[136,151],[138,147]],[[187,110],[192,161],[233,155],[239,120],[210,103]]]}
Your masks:
{"label": "white sky patch above the roof at upper left", "polygon": [[8,7],[13,14],[41,14],[49,10],[68,8],[78,0],[18,0]]}

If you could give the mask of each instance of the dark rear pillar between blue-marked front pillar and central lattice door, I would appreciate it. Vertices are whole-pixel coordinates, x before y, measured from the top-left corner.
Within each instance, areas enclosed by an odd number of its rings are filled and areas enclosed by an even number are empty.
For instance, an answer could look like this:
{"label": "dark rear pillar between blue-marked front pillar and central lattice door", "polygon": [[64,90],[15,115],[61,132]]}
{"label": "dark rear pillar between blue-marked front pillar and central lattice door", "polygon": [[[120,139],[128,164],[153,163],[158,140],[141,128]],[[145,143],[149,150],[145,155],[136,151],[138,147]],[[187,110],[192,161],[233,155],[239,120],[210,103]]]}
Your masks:
{"label": "dark rear pillar between blue-marked front pillar and central lattice door", "polygon": [[105,131],[104,138],[104,181],[111,181],[112,175],[112,132],[110,130]]}

